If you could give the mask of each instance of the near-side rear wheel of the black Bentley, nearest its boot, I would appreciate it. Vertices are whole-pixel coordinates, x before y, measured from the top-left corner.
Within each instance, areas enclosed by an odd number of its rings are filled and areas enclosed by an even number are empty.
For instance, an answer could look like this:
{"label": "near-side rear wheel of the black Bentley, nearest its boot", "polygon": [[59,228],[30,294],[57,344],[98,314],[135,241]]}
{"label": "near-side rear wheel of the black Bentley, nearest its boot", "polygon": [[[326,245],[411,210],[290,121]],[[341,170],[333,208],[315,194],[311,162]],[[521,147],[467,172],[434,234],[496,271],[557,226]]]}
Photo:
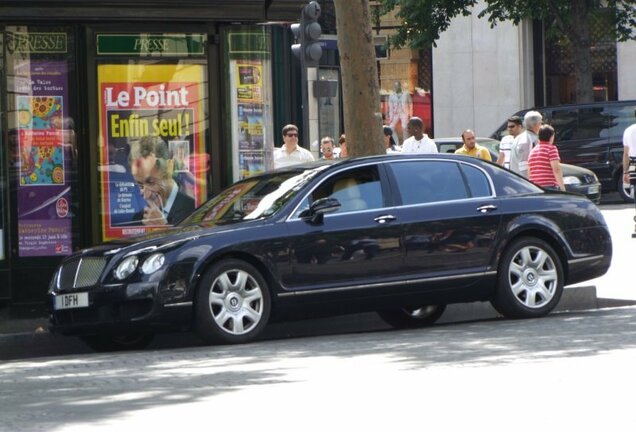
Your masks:
{"label": "near-side rear wheel of the black Bentley, nearest its boot", "polygon": [[504,252],[491,302],[506,318],[547,315],[563,294],[563,265],[552,247],[538,238],[515,240]]}

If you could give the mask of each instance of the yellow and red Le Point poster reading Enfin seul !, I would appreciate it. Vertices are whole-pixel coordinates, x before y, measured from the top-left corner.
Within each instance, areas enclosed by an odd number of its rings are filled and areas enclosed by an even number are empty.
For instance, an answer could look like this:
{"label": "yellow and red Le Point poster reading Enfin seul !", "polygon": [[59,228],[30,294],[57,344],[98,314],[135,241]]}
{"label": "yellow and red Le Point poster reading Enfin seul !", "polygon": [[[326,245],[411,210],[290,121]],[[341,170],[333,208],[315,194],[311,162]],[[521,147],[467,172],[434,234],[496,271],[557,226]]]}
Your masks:
{"label": "yellow and red Le Point poster reading Enfin seul !", "polygon": [[104,240],[164,229],[206,199],[204,72],[98,66]]}

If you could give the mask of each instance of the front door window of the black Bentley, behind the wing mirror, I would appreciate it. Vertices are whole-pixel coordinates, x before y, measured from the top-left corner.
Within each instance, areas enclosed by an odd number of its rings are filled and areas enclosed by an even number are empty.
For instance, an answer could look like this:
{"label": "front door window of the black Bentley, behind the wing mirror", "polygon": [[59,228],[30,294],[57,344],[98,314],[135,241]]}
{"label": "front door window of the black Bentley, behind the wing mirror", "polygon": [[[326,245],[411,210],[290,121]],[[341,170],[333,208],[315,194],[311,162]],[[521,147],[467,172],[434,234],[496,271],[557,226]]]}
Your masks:
{"label": "front door window of the black Bentley, behind the wing mirror", "polygon": [[371,210],[384,207],[382,184],[376,166],[350,169],[327,178],[301,203],[300,216],[312,202],[320,198],[335,198],[340,202],[336,213]]}

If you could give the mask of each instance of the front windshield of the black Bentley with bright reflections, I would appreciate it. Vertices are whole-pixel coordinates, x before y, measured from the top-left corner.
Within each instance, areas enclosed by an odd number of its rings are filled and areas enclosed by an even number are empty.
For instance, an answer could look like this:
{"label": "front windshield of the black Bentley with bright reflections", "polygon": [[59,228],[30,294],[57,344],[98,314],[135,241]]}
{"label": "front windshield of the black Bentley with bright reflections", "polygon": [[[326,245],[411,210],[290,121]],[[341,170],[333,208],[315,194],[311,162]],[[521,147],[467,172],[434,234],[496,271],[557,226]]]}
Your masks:
{"label": "front windshield of the black Bentley with bright reflections", "polygon": [[274,215],[326,165],[286,170],[249,178],[207,201],[179,225],[201,222],[231,223]]}

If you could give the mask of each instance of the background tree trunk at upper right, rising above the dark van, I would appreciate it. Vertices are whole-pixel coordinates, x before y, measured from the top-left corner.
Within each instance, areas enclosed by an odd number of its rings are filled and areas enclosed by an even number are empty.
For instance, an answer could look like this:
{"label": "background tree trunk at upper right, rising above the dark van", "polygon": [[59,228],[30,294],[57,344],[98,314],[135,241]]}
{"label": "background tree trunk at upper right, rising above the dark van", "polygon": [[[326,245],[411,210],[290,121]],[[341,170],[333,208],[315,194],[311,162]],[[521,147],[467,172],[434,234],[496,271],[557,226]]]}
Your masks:
{"label": "background tree trunk at upper right, rising above the dark van", "polygon": [[572,25],[567,34],[572,43],[574,74],[576,78],[576,102],[594,100],[592,79],[592,51],[590,43],[587,0],[572,1]]}

